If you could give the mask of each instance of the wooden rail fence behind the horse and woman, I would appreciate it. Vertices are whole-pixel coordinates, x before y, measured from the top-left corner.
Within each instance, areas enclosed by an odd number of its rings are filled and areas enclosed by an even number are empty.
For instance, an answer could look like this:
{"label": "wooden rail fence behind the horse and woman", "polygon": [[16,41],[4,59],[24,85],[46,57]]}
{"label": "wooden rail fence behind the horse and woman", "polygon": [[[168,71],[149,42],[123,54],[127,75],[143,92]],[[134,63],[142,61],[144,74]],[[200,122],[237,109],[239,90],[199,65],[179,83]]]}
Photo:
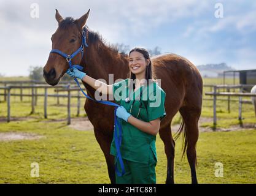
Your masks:
{"label": "wooden rail fence behind the horse and woman", "polygon": [[[17,85],[18,83],[18,85]],[[45,85],[45,82],[41,81],[0,81],[0,84],[4,86],[0,86],[0,89],[4,89],[4,93],[0,93],[0,96],[4,96],[4,100],[7,102],[7,122],[10,122],[10,97],[18,96],[20,100],[23,100],[23,97],[31,97],[31,113],[35,112],[35,106],[37,105],[37,97],[44,97],[44,118],[47,118],[47,97],[56,97],[57,104],[60,104],[59,98],[65,97],[68,98],[67,110],[68,110],[68,124],[71,124],[71,98],[77,98],[77,116],[80,114],[80,98],[83,97],[79,93],[80,89],[77,88],[76,83],[70,82],[62,82],[58,86],[49,86]],[[26,86],[24,86],[26,84]],[[32,85],[28,85],[32,84]],[[66,84],[66,85],[64,85]],[[73,85],[74,84],[74,85]],[[246,92],[242,92],[243,88],[252,88],[254,85],[204,85],[204,88],[213,89],[212,92],[206,92],[205,95],[212,96],[213,99],[204,100],[212,100],[213,101],[213,113],[214,119],[213,124],[214,127],[217,124],[217,116],[216,116],[216,102],[217,96],[226,96],[227,99],[218,99],[218,100],[227,100],[228,111],[230,112],[230,102],[238,101],[239,102],[239,119],[242,119],[242,103],[249,103],[249,100],[242,100],[242,97],[252,97],[255,94],[250,94]],[[37,93],[37,89],[44,88],[44,94]],[[47,89],[54,88],[56,94],[48,94]],[[12,93],[12,89],[20,89],[20,93]],[[24,94],[23,89],[31,89],[31,94]],[[224,89],[227,92],[220,92],[220,89]],[[230,92],[230,89],[233,89],[234,92]],[[235,89],[239,89],[240,92],[235,92]],[[58,94],[58,92],[67,92],[67,94]],[[71,91],[77,91],[77,95],[72,95]],[[217,92],[218,91],[218,92]],[[239,97],[239,100],[231,100],[230,97]],[[251,102],[250,102],[251,103]]]}

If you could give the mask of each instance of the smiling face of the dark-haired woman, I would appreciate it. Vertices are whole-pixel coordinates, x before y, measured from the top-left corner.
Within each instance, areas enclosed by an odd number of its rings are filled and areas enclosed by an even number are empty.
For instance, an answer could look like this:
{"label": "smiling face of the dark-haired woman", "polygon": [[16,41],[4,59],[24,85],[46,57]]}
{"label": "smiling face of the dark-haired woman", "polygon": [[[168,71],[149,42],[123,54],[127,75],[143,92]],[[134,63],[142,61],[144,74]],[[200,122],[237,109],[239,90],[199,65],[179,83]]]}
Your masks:
{"label": "smiling face of the dark-haired woman", "polygon": [[149,64],[149,59],[145,59],[142,53],[138,51],[131,52],[129,56],[129,69],[131,73],[135,75],[144,75],[147,65]]}

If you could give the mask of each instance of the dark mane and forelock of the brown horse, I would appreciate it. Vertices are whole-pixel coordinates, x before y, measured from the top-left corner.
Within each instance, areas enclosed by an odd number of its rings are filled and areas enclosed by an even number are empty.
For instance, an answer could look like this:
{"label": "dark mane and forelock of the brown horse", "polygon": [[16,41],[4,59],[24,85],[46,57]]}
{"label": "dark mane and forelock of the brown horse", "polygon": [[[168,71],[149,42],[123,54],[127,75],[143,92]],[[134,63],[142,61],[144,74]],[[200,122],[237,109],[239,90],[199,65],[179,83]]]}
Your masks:
{"label": "dark mane and forelock of the brown horse", "polygon": [[[59,28],[66,30],[66,29],[68,29],[68,27],[70,25],[76,25],[76,21],[77,20],[75,20],[72,17],[67,17],[63,21],[60,22]],[[98,45],[98,47],[105,46],[105,47],[109,48],[111,51],[113,51],[114,53],[118,53],[118,48],[116,45],[107,43],[107,41],[104,40],[103,37],[101,35],[99,35],[98,32],[92,31],[91,29],[88,28],[87,25],[85,25],[85,29],[88,31],[88,42],[89,43],[95,43],[96,45]],[[125,55],[122,53],[120,53],[120,54]]]}

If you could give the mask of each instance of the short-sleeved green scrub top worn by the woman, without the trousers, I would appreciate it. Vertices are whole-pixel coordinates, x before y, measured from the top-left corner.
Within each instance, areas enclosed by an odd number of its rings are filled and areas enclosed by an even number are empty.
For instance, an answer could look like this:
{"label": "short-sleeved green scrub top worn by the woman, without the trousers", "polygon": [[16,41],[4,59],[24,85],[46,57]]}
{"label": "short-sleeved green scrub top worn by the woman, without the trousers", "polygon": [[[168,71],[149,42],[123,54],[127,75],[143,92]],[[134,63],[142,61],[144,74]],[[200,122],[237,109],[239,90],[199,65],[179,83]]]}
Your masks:
{"label": "short-sleeved green scrub top worn by the woman, without the trousers", "polygon": [[[133,92],[133,94],[131,93],[130,102],[125,102],[125,98],[129,95],[129,82],[130,78],[122,80],[118,83],[114,83],[113,95],[115,102],[125,107],[126,111],[128,111],[128,113],[131,113],[131,115],[133,115],[135,118],[139,113],[139,116],[137,118],[142,121],[149,122],[157,118],[160,118],[162,120],[166,116],[165,91],[163,91],[163,89],[161,89],[160,86],[158,86],[158,84],[154,81],[149,86],[141,86],[141,88],[137,89],[135,92]],[[142,95],[140,96],[141,93]],[[133,99],[136,98],[134,100],[134,104],[132,96]],[[140,112],[140,100],[137,100],[137,97],[139,96],[141,97],[140,99],[142,102]],[[133,162],[149,164],[150,157],[152,157],[153,153],[155,161],[157,162],[155,135],[150,135],[142,132],[138,128],[134,127],[130,123],[126,123],[123,120],[121,121],[121,123],[123,130],[122,144],[120,147],[122,158]],[[111,154],[117,156],[114,137],[111,143]]]}

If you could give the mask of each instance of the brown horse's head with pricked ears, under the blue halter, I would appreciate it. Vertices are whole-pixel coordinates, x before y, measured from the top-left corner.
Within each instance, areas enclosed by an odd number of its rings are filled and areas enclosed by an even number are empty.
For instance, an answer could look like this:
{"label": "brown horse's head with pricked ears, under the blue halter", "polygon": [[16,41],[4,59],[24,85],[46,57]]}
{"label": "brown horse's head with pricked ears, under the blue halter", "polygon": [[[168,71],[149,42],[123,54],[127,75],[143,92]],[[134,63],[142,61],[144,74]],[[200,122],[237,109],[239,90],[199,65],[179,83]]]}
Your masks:
{"label": "brown horse's head with pricked ears, under the blue halter", "polygon": [[[74,53],[82,44],[82,28],[85,25],[90,10],[77,20],[73,18],[63,19],[56,10],[55,18],[58,21],[58,29],[52,35],[52,49],[60,50],[67,55]],[[72,59],[72,64],[80,64],[82,53]],[[69,63],[66,58],[57,53],[50,53],[44,66],[44,78],[49,85],[57,85],[60,78],[66,73]]]}

